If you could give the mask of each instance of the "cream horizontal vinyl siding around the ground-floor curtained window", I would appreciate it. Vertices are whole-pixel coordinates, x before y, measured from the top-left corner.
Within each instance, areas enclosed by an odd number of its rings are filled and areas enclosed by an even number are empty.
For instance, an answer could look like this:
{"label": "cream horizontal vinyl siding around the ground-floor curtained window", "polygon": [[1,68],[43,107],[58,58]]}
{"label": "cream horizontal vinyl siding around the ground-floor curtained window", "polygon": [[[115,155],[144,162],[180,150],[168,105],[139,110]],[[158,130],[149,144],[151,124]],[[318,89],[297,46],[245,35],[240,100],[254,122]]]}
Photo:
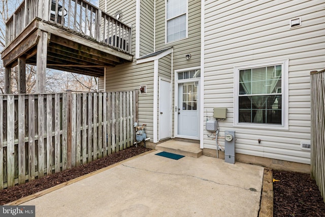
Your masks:
{"label": "cream horizontal vinyl siding around the ground-floor curtained window", "polygon": [[[300,142],[310,140],[309,72],[325,68],[324,7],[323,1],[205,1],[204,111],[212,117],[213,108],[228,108],[219,135],[235,130],[237,153],[310,164]],[[290,28],[296,17],[302,25]],[[234,127],[234,67],[279,59],[289,60],[288,130]],[[215,149],[204,134],[204,147]]]}

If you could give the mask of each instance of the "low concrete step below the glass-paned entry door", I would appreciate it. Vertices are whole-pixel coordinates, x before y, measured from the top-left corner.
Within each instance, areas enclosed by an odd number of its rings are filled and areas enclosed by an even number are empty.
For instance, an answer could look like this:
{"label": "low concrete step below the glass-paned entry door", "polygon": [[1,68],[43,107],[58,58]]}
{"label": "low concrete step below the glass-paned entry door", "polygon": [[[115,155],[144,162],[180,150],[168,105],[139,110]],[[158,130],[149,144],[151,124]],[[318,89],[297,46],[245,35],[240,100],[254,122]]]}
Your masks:
{"label": "low concrete step below the glass-paned entry door", "polygon": [[187,157],[200,158],[202,149],[199,143],[183,142],[177,140],[168,140],[156,145],[156,150],[170,153],[181,154]]}

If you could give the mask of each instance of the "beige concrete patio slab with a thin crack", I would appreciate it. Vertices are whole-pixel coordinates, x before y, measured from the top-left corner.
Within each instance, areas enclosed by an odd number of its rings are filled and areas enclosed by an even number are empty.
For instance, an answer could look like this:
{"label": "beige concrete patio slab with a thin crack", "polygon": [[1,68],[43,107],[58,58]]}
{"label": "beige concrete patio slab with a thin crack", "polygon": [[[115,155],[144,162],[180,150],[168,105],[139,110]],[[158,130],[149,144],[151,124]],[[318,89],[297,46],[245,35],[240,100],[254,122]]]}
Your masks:
{"label": "beige concrete patio slab with a thin crack", "polygon": [[257,216],[263,167],[157,152],[20,205],[36,216]]}

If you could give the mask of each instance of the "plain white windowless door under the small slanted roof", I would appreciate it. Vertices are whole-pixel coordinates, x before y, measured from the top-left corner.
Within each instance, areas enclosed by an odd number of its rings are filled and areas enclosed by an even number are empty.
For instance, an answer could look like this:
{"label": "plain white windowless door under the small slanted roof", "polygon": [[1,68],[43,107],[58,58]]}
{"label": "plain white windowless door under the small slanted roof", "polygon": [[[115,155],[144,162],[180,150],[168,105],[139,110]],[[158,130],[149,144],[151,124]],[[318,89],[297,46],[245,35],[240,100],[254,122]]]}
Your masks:
{"label": "plain white windowless door under the small slanted roof", "polygon": [[171,82],[159,78],[159,134],[158,139],[171,137]]}

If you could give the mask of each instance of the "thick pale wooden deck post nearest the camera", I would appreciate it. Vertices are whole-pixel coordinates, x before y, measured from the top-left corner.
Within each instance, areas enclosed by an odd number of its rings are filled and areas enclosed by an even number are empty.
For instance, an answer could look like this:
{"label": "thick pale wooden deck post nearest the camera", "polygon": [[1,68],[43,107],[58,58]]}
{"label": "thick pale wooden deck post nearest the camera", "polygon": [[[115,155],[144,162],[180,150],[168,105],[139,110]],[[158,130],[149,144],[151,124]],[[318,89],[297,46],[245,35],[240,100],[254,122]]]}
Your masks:
{"label": "thick pale wooden deck post nearest the camera", "polygon": [[46,79],[46,60],[47,60],[47,42],[48,33],[41,31],[40,40],[37,44],[37,59],[36,59],[36,93],[43,94],[45,92]]}

